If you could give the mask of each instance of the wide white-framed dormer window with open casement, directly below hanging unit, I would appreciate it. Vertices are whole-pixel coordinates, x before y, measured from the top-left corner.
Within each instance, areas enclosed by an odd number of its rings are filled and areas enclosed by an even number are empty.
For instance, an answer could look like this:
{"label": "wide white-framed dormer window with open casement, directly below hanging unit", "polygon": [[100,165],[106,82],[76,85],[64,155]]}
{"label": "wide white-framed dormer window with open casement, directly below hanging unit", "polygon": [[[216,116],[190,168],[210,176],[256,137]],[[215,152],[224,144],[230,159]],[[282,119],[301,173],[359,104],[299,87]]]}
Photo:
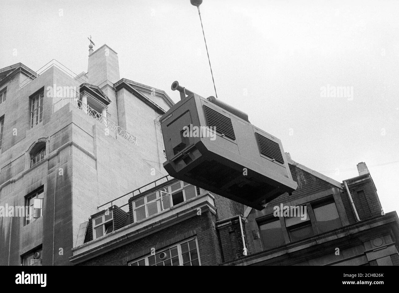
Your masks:
{"label": "wide white-framed dormer window with open casement, directly below hanging unit", "polygon": [[171,206],[178,205],[197,196],[197,189],[183,181],[177,181],[170,186],[150,193],[133,201],[134,222],[152,216]]}

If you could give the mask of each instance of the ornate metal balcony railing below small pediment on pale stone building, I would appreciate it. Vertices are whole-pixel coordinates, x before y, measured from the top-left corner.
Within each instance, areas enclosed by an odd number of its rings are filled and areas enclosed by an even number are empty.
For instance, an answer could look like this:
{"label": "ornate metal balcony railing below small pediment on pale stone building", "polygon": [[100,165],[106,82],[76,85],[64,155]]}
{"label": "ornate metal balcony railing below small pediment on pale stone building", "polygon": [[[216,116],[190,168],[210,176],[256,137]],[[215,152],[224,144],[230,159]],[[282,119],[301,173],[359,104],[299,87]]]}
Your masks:
{"label": "ornate metal balcony railing below small pediment on pale stone building", "polygon": [[71,103],[73,106],[77,107],[78,109],[82,110],[83,112],[94,118],[95,120],[104,124],[107,127],[107,129],[111,130],[112,132],[118,134],[125,140],[128,140],[129,142],[137,146],[137,138],[134,135],[130,134],[129,132],[127,132],[127,130],[123,129],[112,120],[104,117],[102,114],[91,108],[89,105],[84,104],[82,101],[78,100],[77,98],[63,98],[58,102],[55,102],[54,112],[57,112],[59,109],[61,109],[63,106],[69,103]]}

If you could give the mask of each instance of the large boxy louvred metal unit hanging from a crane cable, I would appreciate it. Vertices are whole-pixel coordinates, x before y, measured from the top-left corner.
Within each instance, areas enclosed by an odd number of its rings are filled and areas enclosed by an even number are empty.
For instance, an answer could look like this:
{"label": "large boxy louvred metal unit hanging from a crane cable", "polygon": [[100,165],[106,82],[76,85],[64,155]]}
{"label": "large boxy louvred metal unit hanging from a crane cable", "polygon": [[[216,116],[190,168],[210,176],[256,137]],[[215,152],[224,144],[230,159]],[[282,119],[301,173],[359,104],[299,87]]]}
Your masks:
{"label": "large boxy louvred metal unit hanging from a crane cable", "polygon": [[296,189],[278,138],[219,99],[172,90],[181,100],[160,119],[171,176],[258,210]]}

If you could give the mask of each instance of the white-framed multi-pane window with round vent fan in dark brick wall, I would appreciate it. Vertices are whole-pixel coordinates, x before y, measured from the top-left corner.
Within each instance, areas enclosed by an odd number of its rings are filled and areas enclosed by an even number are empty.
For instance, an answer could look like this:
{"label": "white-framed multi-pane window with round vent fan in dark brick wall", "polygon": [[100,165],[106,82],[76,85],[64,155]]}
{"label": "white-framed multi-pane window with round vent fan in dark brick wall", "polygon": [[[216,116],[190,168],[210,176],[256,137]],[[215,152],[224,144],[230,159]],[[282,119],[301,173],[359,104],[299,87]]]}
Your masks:
{"label": "white-framed multi-pane window with round vent fan in dark brick wall", "polygon": [[155,255],[148,255],[129,265],[201,265],[197,238],[192,238],[170,246]]}

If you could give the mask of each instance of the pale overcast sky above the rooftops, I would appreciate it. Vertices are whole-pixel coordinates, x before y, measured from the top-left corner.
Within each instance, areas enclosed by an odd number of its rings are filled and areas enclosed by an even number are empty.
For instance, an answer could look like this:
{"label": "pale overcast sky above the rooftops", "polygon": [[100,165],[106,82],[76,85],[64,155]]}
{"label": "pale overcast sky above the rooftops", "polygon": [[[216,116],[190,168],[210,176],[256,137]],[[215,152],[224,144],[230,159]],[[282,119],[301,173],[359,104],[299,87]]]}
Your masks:
{"label": "pale overcast sky above the rooftops", "polygon": [[[399,2],[204,0],[218,97],[282,140],[294,161],[338,181],[364,161],[385,212],[399,210]],[[51,59],[87,71],[89,41],[119,56],[120,77],[214,95],[189,0],[0,2],[0,68]],[[324,88],[323,88],[324,87]],[[347,96],[323,95],[349,87]],[[351,95],[353,90],[353,96]],[[382,163],[390,163],[379,165]],[[350,169],[350,170],[348,170]]]}

